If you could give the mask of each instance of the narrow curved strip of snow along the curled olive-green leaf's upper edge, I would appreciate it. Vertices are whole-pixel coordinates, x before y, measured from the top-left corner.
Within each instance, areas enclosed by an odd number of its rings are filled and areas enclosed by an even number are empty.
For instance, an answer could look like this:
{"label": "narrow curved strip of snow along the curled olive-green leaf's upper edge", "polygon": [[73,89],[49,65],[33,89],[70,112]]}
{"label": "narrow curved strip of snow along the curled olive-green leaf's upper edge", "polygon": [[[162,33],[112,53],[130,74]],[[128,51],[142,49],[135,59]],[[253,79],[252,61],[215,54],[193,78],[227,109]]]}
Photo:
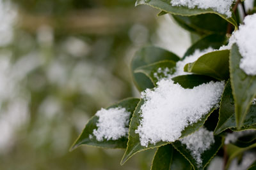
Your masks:
{"label": "narrow curved strip of snow along the curled olive-green leaf's upper edge", "polygon": [[184,74],[189,74],[184,72],[184,66],[188,64],[189,62],[195,62],[199,57],[204,55],[205,53],[213,52],[214,49],[209,47],[205,50],[195,50],[195,52],[192,55],[187,56],[184,60],[180,60],[176,63],[176,72],[172,75],[172,77],[180,76]]}

